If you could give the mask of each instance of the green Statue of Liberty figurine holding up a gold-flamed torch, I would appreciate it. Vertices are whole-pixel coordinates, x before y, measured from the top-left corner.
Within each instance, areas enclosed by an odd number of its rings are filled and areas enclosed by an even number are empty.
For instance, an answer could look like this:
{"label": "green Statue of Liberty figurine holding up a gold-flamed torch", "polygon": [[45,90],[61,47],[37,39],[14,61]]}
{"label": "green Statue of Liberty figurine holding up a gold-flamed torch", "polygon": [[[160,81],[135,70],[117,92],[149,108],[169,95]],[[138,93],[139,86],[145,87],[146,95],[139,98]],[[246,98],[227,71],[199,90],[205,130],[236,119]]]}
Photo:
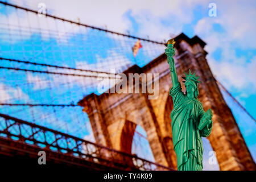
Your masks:
{"label": "green Statue of Liberty figurine holding up a gold-flamed torch", "polygon": [[203,105],[197,99],[199,95],[196,73],[190,69],[186,77],[186,93],[181,91],[175,68],[174,39],[168,40],[165,53],[170,65],[172,88],[170,96],[174,102],[171,111],[172,142],[177,156],[178,171],[199,171],[203,169],[203,144],[201,137],[208,137],[212,131],[212,110],[204,111]]}

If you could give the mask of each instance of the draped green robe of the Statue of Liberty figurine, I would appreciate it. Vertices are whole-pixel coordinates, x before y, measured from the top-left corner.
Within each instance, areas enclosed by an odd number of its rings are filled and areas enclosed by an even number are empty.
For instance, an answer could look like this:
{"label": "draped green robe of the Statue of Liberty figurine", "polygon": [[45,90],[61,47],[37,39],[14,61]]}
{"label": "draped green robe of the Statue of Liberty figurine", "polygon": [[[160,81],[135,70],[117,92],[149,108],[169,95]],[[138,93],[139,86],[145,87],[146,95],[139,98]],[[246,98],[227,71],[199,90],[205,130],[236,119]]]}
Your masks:
{"label": "draped green robe of the Statue of Liberty figurine", "polygon": [[197,129],[205,111],[196,98],[190,99],[181,91],[180,83],[171,88],[174,102],[171,111],[172,142],[177,156],[177,169],[182,171],[203,169],[203,144],[201,137],[208,137],[212,121],[202,130]]}

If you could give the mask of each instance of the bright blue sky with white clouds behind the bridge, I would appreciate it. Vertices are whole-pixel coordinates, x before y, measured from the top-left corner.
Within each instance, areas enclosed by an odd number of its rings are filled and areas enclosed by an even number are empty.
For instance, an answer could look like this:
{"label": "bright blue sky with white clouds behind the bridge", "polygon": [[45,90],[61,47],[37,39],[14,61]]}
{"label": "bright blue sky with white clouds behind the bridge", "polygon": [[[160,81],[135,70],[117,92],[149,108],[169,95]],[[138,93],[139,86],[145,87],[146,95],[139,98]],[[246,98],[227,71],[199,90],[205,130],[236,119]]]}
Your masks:
{"label": "bright blue sky with white clouds behind the bridge", "polygon": [[[41,1],[10,1],[20,6],[38,9],[38,3]],[[226,88],[237,98],[238,101],[256,118],[256,46],[255,39],[255,1],[43,1],[47,6],[48,13],[63,18],[77,20],[80,18],[82,23],[90,24],[96,27],[107,27],[109,30],[127,33],[142,38],[150,38],[162,42],[169,39],[172,35],[184,32],[192,38],[197,35],[203,39],[207,46],[207,59],[216,78],[226,86]],[[216,3],[217,16],[208,15],[209,3]],[[77,28],[71,24],[62,22],[46,21],[44,18],[38,18],[30,14],[24,14],[22,11],[14,11],[12,8],[5,9],[1,5],[0,9],[1,24],[1,56],[13,59],[31,60],[37,63],[49,63],[48,60],[54,60],[56,65],[65,65],[68,67],[97,69],[106,71],[109,68],[127,67],[137,63],[143,66],[154,57],[163,52],[163,47],[152,46],[142,42],[143,48],[138,52],[136,60],[131,53],[131,46],[136,40],[117,38],[113,35],[107,35],[104,32],[98,32],[85,28]],[[8,15],[8,19],[6,16]],[[17,18],[19,16],[19,19]],[[28,17],[30,21],[28,22]],[[31,28],[22,32],[22,39],[18,39],[20,32],[15,27],[6,27],[5,23],[20,24]],[[38,23],[40,22],[40,23]],[[57,28],[56,28],[57,27]],[[38,31],[36,28],[45,28],[48,32]],[[11,30],[11,31],[8,31]],[[11,32],[12,36],[10,36]],[[171,35],[170,35],[171,34]],[[17,35],[17,38],[13,35]],[[10,39],[11,38],[11,39]],[[22,49],[20,49],[22,48]],[[119,48],[119,49],[118,49]],[[154,51],[152,51],[154,49]],[[86,53],[85,53],[86,52]],[[113,57],[116,60],[113,60]],[[118,63],[122,59],[122,63]],[[5,66],[11,63],[2,62]],[[1,64],[2,65],[2,64]],[[17,65],[24,67],[24,65]],[[30,69],[34,67],[30,65]],[[39,68],[46,70],[46,68]],[[9,74],[1,70],[1,73]],[[19,73],[15,73],[19,74]],[[9,75],[9,81],[5,86],[12,90],[9,95],[19,93],[23,98],[37,103],[38,93],[43,97],[44,102],[48,102],[53,96],[65,95],[67,90],[61,87],[61,84],[67,84],[67,81],[61,78],[45,76],[40,74],[31,75]],[[18,90],[14,86],[14,80],[19,77],[20,81],[27,80],[30,77],[32,92],[28,92],[26,85],[18,84]],[[40,80],[43,85],[36,85]],[[47,85],[52,80],[57,82],[54,89],[48,90]],[[27,80],[28,81],[28,80]],[[58,102],[78,101],[84,94],[93,92],[93,88],[85,89],[88,82],[71,78],[72,89],[76,90],[79,86],[82,91],[65,97],[65,100],[55,100]],[[3,87],[3,82],[1,82]],[[90,83],[92,84],[92,83]],[[39,88],[42,86],[44,90]],[[67,85],[66,85],[67,86]],[[1,85],[0,85],[1,87]],[[18,90],[18,91],[17,91]],[[61,93],[62,92],[62,93]],[[6,93],[8,94],[8,93]],[[246,139],[246,143],[251,153],[256,158],[255,131],[256,126],[249,117],[240,111],[236,106],[225,97],[237,119],[238,126]],[[12,100],[15,103],[24,102],[19,99]],[[42,100],[40,100],[42,102]],[[43,111],[38,109],[39,112]],[[77,109],[77,112],[80,112]],[[11,110],[9,110],[11,111]],[[28,111],[28,110],[27,110]],[[28,113],[27,113],[28,114]],[[29,114],[28,114],[29,115]],[[63,117],[57,113],[57,117]],[[21,117],[21,116],[20,116]],[[83,115],[86,118],[86,115]],[[69,123],[71,118],[67,119]],[[87,119],[88,120],[88,119]],[[87,122],[88,123],[88,122]],[[48,122],[46,126],[50,127]],[[72,125],[72,124],[71,124]],[[82,125],[82,124],[81,124]],[[88,126],[86,124],[86,126]],[[88,126],[89,127],[89,126]],[[139,130],[139,129],[138,129]],[[64,129],[63,129],[64,131]],[[141,133],[143,130],[141,130]],[[87,135],[89,131],[76,133],[79,137]]]}

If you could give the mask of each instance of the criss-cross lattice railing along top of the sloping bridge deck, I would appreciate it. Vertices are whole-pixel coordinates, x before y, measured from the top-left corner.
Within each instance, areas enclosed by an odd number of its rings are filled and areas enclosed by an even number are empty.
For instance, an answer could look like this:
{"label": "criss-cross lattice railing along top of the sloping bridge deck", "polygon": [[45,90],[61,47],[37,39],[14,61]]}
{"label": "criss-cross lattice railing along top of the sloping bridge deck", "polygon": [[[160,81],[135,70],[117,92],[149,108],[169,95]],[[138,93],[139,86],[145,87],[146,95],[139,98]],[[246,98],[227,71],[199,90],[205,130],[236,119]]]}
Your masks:
{"label": "criss-cross lattice railing along top of the sloping bridge deck", "polygon": [[1,138],[30,144],[105,166],[131,170],[172,170],[136,155],[101,146],[5,114],[0,114],[0,140]]}

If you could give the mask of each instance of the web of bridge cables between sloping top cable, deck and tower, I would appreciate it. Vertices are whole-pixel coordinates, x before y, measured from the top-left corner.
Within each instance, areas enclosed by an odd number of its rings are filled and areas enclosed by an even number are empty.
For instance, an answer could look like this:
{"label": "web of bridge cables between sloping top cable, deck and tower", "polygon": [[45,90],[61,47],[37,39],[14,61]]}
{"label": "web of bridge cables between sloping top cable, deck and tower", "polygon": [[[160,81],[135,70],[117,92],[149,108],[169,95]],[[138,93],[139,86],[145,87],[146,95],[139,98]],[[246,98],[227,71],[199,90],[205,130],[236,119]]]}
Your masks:
{"label": "web of bridge cables between sloping top cable, deck and tower", "polygon": [[[0,113],[79,138],[92,128],[77,102],[100,94],[102,80],[142,67],[166,48],[9,2],[0,2],[0,19]],[[143,47],[134,57],[138,39]]]}

